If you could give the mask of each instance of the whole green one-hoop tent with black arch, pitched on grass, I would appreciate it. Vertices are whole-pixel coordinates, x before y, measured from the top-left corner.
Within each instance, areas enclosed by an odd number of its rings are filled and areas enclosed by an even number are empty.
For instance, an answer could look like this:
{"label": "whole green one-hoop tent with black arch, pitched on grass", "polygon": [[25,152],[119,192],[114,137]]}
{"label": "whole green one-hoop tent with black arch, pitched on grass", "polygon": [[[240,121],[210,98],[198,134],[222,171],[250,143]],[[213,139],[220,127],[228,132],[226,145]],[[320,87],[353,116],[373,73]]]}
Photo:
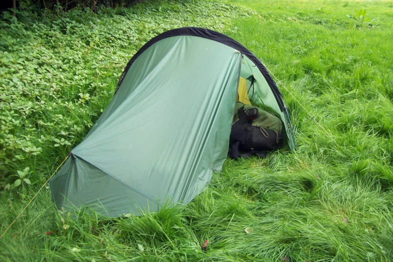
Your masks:
{"label": "whole green one-hoop tent with black arch, pitched on grass", "polygon": [[240,77],[251,101],[274,109],[294,134],[266,67],[235,40],[207,29],[167,31],[128,62],[85,139],[50,180],[58,208],[107,216],[190,202],[227,157]]}

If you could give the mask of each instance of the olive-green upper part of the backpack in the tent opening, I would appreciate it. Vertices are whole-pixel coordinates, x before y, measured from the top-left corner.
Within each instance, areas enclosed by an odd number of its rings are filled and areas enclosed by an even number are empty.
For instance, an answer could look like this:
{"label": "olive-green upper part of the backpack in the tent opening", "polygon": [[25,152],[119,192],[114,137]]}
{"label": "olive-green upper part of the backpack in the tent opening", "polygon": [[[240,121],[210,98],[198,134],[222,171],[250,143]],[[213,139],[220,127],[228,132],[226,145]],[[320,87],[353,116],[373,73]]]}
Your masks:
{"label": "olive-green upper part of the backpack in the tent opening", "polygon": [[265,127],[265,128],[270,128],[273,130],[276,130],[277,132],[282,132],[283,129],[283,122],[278,118],[276,115],[273,113],[269,113],[259,107],[253,106],[253,105],[248,105],[248,104],[243,104],[241,102],[236,102],[235,106],[235,115],[233,117],[233,122],[237,121],[239,119],[237,115],[237,111],[239,108],[244,106],[244,111],[247,113],[249,110],[253,110],[253,108],[256,108],[258,110],[259,116],[255,119],[252,120],[252,125],[253,126],[260,126],[260,127]]}

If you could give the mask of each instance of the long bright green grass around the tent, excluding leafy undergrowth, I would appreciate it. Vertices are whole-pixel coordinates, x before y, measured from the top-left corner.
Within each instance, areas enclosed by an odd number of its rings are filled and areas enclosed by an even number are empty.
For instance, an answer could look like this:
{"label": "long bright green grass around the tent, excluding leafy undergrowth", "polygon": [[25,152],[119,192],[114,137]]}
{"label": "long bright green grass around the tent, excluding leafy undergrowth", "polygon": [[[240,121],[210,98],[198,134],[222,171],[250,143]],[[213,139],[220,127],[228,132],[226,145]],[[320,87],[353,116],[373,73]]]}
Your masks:
{"label": "long bright green grass around the tent, excluding leafy undergrowth", "polygon": [[[229,16],[230,23],[216,30],[250,49],[284,85],[279,88],[296,126],[298,151],[277,151],[266,159],[228,159],[223,172],[213,174],[209,187],[191,203],[141,217],[108,220],[86,210],[68,215],[55,210],[49,190],[44,189],[0,239],[0,260],[393,260],[393,2],[229,2],[255,13],[239,9],[240,18]],[[369,27],[346,16],[356,16],[360,9],[370,20],[378,19],[378,25]],[[194,19],[201,25],[214,24],[209,24],[208,16]],[[137,49],[148,36],[121,52]],[[85,52],[90,54],[89,49]],[[115,60],[124,56],[116,55]],[[72,145],[108,103],[117,78],[111,77],[111,70],[121,72],[94,64],[85,70],[97,67],[108,72],[97,79],[105,86],[83,85],[82,92],[71,82],[56,95],[62,103],[78,101],[80,92],[92,97],[89,103],[74,102],[59,109],[59,114],[74,114],[67,118],[73,123],[66,125],[51,110],[35,115],[47,124],[64,124],[62,130],[67,132],[71,132],[67,126],[80,127],[75,139],[68,140]],[[48,104],[57,101],[47,96],[43,100]],[[61,133],[45,128],[36,132]],[[21,131],[9,132],[17,136]],[[42,153],[15,166],[3,165],[8,175],[30,167],[33,185],[24,198],[18,188],[2,191],[1,232],[71,147],[54,148],[52,139],[33,144]],[[205,253],[200,245],[206,239]]]}

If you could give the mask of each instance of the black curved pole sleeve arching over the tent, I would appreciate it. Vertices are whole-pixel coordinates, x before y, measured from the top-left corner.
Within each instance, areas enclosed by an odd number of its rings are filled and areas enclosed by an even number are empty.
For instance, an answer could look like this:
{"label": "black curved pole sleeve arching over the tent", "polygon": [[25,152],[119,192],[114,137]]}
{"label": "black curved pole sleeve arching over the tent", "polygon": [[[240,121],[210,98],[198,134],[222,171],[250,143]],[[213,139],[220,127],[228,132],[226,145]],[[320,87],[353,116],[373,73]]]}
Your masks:
{"label": "black curved pole sleeve arching over the tent", "polygon": [[259,69],[259,71],[263,74],[263,76],[265,77],[266,81],[268,82],[274,96],[276,97],[277,103],[281,109],[282,112],[284,112],[287,115],[287,120],[290,124],[290,129],[291,129],[291,135],[292,135],[292,141],[294,143],[294,148],[296,150],[296,143],[295,143],[295,135],[294,135],[294,131],[292,128],[292,122],[291,119],[289,118],[289,114],[287,111],[287,108],[284,104],[283,101],[283,96],[279,90],[279,88],[276,85],[276,82],[273,80],[273,78],[270,76],[268,69],[265,67],[265,65],[260,62],[260,60],[254,55],[252,54],[247,48],[245,48],[242,44],[240,44],[239,42],[237,42],[236,40],[221,34],[219,32],[213,31],[213,30],[209,30],[206,28],[198,28],[198,27],[183,27],[183,28],[178,28],[178,29],[173,29],[173,30],[169,30],[166,31],[154,38],[152,38],[149,42],[147,42],[127,63],[127,65],[125,66],[125,69],[123,71],[123,73],[120,76],[120,79],[117,83],[116,89],[114,91],[114,94],[116,94],[117,90],[119,89],[124,76],[127,74],[128,69],[132,66],[132,64],[134,63],[134,61],[143,53],[145,52],[146,49],[148,49],[149,47],[151,47],[153,44],[157,43],[160,40],[163,40],[165,38],[169,38],[169,37],[175,37],[175,36],[196,36],[196,37],[202,37],[202,38],[206,38],[206,39],[210,39],[213,41],[217,41],[219,43],[222,43],[224,45],[227,45],[229,47],[232,47],[234,49],[236,49],[237,51],[239,51],[240,53],[242,53],[243,55],[245,55],[249,60],[251,60]]}

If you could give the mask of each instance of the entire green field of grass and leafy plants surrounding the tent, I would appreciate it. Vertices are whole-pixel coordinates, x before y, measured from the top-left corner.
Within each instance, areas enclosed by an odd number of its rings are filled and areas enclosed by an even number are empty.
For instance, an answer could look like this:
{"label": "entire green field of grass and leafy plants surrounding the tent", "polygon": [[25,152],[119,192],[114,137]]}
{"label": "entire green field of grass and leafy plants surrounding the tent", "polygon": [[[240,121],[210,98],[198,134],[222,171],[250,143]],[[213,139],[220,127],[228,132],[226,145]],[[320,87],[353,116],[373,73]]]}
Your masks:
{"label": "entire green field of grass and leafy plants surrounding the tent", "polygon": [[44,187],[0,238],[1,261],[393,260],[393,1],[180,1],[15,19],[0,20],[1,234],[83,139],[128,59],[171,28],[220,31],[260,58],[298,151],[228,159],[191,203],[141,217],[75,219]]}

